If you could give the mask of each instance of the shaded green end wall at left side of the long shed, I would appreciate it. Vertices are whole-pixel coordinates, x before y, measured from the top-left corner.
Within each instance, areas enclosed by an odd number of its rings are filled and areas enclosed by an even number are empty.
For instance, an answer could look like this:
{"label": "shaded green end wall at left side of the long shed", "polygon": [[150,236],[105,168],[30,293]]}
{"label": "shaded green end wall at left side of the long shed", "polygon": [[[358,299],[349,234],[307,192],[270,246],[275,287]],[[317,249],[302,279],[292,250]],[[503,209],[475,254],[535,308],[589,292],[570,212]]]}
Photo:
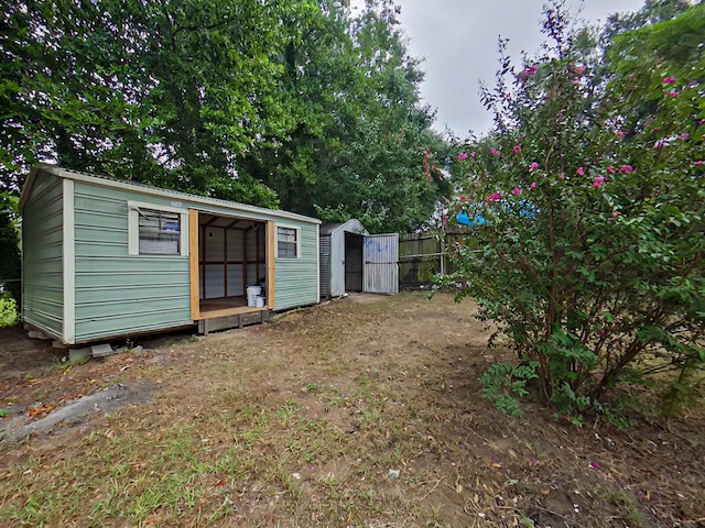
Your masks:
{"label": "shaded green end wall at left side of the long shed", "polygon": [[22,244],[22,317],[47,333],[63,331],[63,191],[62,180],[41,175],[24,207]]}

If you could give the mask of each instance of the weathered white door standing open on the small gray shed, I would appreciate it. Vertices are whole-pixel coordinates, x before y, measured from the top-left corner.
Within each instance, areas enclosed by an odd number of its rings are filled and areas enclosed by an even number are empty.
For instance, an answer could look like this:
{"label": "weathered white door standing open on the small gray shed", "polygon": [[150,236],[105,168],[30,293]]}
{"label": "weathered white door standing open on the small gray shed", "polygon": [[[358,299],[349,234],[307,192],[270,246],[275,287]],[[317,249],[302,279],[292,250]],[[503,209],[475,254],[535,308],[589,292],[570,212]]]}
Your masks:
{"label": "weathered white door standing open on the small gray shed", "polygon": [[399,293],[399,234],[365,237],[362,292]]}

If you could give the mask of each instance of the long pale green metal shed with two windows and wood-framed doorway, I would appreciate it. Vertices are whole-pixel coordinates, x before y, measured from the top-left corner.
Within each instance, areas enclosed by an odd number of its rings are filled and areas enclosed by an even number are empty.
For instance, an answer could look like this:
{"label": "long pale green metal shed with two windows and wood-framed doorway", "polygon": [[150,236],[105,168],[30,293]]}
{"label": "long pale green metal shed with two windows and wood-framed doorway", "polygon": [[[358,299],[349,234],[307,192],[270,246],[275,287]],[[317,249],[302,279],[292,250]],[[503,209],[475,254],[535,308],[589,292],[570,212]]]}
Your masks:
{"label": "long pale green metal shed with two windows and wood-framed doorway", "polygon": [[20,209],[22,319],[64,344],[207,333],[319,300],[314,218],[53,165],[31,170]]}

